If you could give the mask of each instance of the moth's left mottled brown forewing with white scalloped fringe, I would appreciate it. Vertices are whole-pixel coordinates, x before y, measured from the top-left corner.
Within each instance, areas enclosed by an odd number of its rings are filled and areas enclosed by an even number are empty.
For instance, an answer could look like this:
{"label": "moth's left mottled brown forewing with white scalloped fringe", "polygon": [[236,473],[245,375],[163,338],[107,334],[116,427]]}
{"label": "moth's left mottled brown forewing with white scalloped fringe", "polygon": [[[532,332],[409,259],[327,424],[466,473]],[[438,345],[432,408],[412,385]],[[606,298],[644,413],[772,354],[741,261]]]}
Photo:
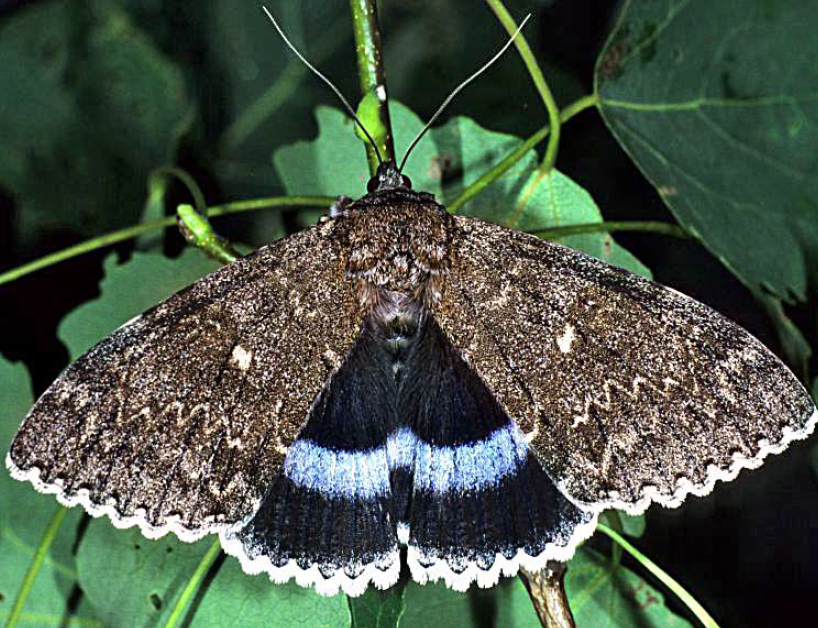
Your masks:
{"label": "moth's left mottled brown forewing with white scalloped fringe", "polygon": [[89,350],[26,417],[12,474],[151,536],[249,517],[360,328],[330,229],[226,266]]}

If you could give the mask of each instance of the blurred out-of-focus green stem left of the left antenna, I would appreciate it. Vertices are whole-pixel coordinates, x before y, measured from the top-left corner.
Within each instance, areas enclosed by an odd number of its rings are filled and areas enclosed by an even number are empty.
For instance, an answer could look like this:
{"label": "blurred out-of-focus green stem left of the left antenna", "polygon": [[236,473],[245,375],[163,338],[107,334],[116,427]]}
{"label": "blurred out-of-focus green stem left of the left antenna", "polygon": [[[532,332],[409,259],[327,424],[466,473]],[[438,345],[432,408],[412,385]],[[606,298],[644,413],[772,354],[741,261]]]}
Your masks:
{"label": "blurred out-of-focus green stem left of the left antenna", "polygon": [[[334,22],[321,37],[316,39],[310,61],[316,65],[320,64],[338,48],[346,33],[344,22]],[[219,138],[219,151],[222,154],[229,153],[241,146],[265,120],[287,102],[306,75],[307,67],[299,59],[291,59],[270,87],[236,116],[236,119],[225,129]]]}

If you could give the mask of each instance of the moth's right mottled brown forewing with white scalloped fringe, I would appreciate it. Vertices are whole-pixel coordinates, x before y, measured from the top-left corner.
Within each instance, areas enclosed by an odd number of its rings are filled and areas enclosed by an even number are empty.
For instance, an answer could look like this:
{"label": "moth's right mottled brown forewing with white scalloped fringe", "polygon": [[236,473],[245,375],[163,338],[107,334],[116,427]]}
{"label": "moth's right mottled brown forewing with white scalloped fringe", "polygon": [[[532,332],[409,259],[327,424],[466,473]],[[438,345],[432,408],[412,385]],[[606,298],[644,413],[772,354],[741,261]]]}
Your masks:
{"label": "moth's right mottled brown forewing with white scalloped fringe", "polygon": [[436,316],[580,505],[678,505],[806,437],[809,394],[707,306],[577,251],[458,217]]}

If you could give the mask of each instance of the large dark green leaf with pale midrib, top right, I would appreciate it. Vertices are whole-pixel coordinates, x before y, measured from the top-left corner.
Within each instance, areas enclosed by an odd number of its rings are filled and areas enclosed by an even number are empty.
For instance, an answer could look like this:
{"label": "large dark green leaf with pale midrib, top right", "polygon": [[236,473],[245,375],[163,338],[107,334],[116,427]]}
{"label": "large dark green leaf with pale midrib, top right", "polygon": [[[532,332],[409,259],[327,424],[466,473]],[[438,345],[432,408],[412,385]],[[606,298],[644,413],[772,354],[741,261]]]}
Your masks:
{"label": "large dark green leaf with pale midrib, top right", "polygon": [[785,300],[818,279],[816,23],[815,2],[628,0],[596,68],[605,122],[674,216]]}

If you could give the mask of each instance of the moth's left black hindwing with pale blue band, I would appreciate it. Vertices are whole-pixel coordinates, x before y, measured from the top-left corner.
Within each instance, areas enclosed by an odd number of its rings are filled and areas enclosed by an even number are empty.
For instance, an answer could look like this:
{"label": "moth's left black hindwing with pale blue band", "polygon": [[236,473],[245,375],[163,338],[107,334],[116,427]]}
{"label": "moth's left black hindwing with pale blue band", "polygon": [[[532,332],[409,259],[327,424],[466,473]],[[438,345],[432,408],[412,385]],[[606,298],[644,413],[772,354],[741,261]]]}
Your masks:
{"label": "moth's left black hindwing with pale blue band", "polygon": [[360,595],[400,573],[387,436],[395,417],[390,356],[370,325],[317,398],[258,511],[225,549],[246,571]]}

